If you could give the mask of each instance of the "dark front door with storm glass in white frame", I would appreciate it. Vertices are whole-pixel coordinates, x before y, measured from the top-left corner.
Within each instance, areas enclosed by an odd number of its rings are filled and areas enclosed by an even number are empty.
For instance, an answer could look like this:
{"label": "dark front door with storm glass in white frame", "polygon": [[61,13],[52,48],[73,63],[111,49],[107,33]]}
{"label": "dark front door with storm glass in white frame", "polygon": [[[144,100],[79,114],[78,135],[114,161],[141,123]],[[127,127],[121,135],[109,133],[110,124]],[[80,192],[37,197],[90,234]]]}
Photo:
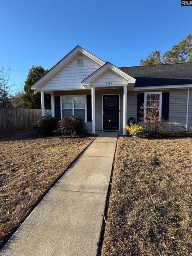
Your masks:
{"label": "dark front door with storm glass in white frame", "polygon": [[119,95],[103,95],[103,129],[119,130]]}

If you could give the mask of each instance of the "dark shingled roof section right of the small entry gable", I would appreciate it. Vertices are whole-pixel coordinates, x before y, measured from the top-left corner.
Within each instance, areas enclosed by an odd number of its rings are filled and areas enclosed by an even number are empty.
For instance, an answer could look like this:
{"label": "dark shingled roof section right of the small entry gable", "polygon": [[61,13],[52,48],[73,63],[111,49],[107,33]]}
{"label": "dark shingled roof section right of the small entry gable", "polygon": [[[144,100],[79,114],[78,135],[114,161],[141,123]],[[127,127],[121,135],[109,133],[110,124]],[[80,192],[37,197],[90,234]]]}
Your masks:
{"label": "dark shingled roof section right of the small entry gable", "polygon": [[136,79],[135,87],[192,84],[192,62],[119,69]]}

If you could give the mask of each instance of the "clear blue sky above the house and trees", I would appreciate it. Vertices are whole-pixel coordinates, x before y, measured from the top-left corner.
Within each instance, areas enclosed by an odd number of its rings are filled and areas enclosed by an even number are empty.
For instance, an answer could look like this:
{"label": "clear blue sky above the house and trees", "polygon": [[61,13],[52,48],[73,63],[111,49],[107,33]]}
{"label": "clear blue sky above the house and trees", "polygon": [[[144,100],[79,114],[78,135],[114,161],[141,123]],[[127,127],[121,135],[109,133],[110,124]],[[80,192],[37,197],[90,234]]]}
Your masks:
{"label": "clear blue sky above the house and trees", "polygon": [[76,45],[104,61],[138,66],[192,33],[181,0],[0,0],[0,61],[16,84],[32,65],[50,69]]}

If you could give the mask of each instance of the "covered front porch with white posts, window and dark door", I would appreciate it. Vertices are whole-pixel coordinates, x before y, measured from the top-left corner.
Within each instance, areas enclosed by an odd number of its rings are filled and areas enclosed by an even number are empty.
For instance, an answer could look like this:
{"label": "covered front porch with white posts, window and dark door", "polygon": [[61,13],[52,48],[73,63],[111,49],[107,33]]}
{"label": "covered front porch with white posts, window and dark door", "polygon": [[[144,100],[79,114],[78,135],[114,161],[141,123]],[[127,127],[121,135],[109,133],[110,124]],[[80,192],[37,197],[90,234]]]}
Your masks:
{"label": "covered front porch with white posts, window and dark door", "polygon": [[[42,116],[44,112],[44,94],[51,93],[51,110],[52,116],[62,119],[69,111],[68,106],[65,108],[66,100],[80,99],[84,100],[84,112],[82,118],[85,120],[86,128],[89,132],[98,134],[99,132],[109,131],[108,133],[118,132],[122,134],[123,127],[127,119],[127,87],[119,88],[91,88],[86,90],[73,91],[53,91],[41,92],[42,99]],[[71,114],[77,115],[71,110]],[[121,131],[121,132],[120,132]]]}

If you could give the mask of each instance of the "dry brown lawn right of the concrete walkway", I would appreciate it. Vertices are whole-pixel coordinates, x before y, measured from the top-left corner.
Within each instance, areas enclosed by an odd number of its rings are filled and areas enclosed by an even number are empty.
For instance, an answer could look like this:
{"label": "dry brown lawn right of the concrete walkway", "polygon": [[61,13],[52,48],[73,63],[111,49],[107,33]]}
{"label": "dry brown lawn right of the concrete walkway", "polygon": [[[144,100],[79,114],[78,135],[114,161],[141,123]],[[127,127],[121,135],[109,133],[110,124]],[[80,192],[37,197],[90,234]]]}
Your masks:
{"label": "dry brown lawn right of the concrete walkway", "polygon": [[102,256],[192,255],[192,138],[118,138]]}

